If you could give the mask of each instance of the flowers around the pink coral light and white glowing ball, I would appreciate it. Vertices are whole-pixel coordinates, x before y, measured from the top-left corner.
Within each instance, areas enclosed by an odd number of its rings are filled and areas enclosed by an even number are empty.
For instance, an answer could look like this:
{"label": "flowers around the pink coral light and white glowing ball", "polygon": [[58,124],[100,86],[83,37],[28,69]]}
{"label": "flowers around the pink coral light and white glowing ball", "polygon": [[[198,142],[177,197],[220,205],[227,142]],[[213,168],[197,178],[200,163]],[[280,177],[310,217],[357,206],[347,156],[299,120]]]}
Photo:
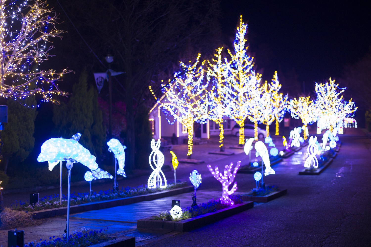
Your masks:
{"label": "flowers around the pink coral light and white glowing ball", "polygon": [[[231,195],[229,198],[234,202],[234,204],[242,203],[242,196],[240,195]],[[155,216],[152,216],[153,220],[168,220],[168,221],[180,221],[180,220],[187,220],[189,218],[193,218],[199,215],[215,212],[217,210],[230,207],[228,204],[221,203],[220,199],[214,200],[211,199],[206,203],[198,204],[194,207],[184,207],[182,208],[183,214],[179,219],[173,219],[170,215],[170,211],[161,212]]]}

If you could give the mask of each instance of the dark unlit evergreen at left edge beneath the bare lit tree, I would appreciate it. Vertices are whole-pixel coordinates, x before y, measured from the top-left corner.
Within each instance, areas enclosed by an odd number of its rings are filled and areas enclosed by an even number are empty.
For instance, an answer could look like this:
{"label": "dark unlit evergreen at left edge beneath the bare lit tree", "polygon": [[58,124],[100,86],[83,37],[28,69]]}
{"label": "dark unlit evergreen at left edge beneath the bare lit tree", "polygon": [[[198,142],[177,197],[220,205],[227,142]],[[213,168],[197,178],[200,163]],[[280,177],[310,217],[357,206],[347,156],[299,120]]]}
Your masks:
{"label": "dark unlit evergreen at left edge beneath the bare lit tree", "polygon": [[8,166],[15,166],[24,161],[33,150],[35,138],[35,119],[36,108],[25,107],[35,106],[35,97],[26,99],[7,101],[8,105],[8,123],[4,124],[4,130],[1,131],[1,138],[4,146],[1,150],[3,158],[4,173]]}

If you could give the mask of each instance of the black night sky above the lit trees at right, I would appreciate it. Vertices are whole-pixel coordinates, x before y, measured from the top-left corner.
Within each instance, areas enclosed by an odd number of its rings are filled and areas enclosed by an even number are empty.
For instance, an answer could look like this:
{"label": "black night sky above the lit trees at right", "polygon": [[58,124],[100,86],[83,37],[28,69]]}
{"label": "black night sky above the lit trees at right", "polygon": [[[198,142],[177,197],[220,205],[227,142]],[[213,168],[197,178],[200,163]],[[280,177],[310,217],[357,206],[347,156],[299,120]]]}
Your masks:
{"label": "black night sky above the lit trees at right", "polygon": [[295,69],[299,81],[339,77],[371,45],[367,1],[226,1],[220,20],[224,43],[231,45],[239,15],[249,25],[256,69],[269,80],[275,70]]}

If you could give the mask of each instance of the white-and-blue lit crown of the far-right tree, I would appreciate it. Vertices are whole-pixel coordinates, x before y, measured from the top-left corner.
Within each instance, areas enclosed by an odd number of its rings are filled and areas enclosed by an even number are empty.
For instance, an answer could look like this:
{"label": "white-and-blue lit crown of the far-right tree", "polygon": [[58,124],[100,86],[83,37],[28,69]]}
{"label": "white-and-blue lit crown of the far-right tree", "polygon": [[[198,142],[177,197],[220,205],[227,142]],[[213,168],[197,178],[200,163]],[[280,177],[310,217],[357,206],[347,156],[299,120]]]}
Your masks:
{"label": "white-and-blue lit crown of the far-right tree", "polygon": [[329,79],[326,83],[316,83],[316,111],[318,120],[321,121],[320,128],[324,129],[329,127],[332,129],[339,119],[342,120],[345,117],[354,116],[354,112],[357,110],[355,103],[350,99],[348,102],[343,100],[341,95],[346,88],[339,87],[339,84],[335,84],[335,80]]}

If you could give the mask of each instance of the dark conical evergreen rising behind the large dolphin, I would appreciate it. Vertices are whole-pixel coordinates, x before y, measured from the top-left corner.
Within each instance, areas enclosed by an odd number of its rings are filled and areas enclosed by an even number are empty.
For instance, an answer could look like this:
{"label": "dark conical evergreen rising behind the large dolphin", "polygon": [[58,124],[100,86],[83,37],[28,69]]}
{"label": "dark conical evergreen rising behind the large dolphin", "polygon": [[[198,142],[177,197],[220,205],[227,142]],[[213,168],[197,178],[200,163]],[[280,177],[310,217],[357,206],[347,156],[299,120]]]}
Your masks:
{"label": "dark conical evergreen rising behind the large dolphin", "polygon": [[82,134],[79,143],[99,157],[105,145],[106,130],[98,106],[98,92],[93,87],[88,89],[87,78],[88,73],[84,70],[79,82],[73,85],[68,102],[54,106],[53,122],[57,137],[70,138],[79,132]]}

